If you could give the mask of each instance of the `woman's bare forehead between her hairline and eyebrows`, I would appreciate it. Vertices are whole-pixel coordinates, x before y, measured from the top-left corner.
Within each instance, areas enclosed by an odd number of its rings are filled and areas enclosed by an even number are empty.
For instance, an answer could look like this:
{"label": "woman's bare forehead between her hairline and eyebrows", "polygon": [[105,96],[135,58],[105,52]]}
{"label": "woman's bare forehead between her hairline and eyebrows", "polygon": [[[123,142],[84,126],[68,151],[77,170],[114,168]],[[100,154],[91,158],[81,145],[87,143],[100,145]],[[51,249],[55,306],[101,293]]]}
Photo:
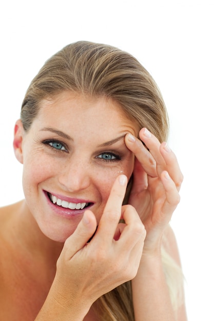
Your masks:
{"label": "woman's bare forehead between her hairline and eyebrows", "polygon": [[[59,126],[75,122],[80,129],[91,125],[105,130],[120,128],[131,130],[137,135],[139,126],[123,110],[122,106],[105,96],[89,97],[79,93],[64,91],[49,99],[44,99],[38,112],[40,122]],[[55,123],[55,124],[53,124]]]}

